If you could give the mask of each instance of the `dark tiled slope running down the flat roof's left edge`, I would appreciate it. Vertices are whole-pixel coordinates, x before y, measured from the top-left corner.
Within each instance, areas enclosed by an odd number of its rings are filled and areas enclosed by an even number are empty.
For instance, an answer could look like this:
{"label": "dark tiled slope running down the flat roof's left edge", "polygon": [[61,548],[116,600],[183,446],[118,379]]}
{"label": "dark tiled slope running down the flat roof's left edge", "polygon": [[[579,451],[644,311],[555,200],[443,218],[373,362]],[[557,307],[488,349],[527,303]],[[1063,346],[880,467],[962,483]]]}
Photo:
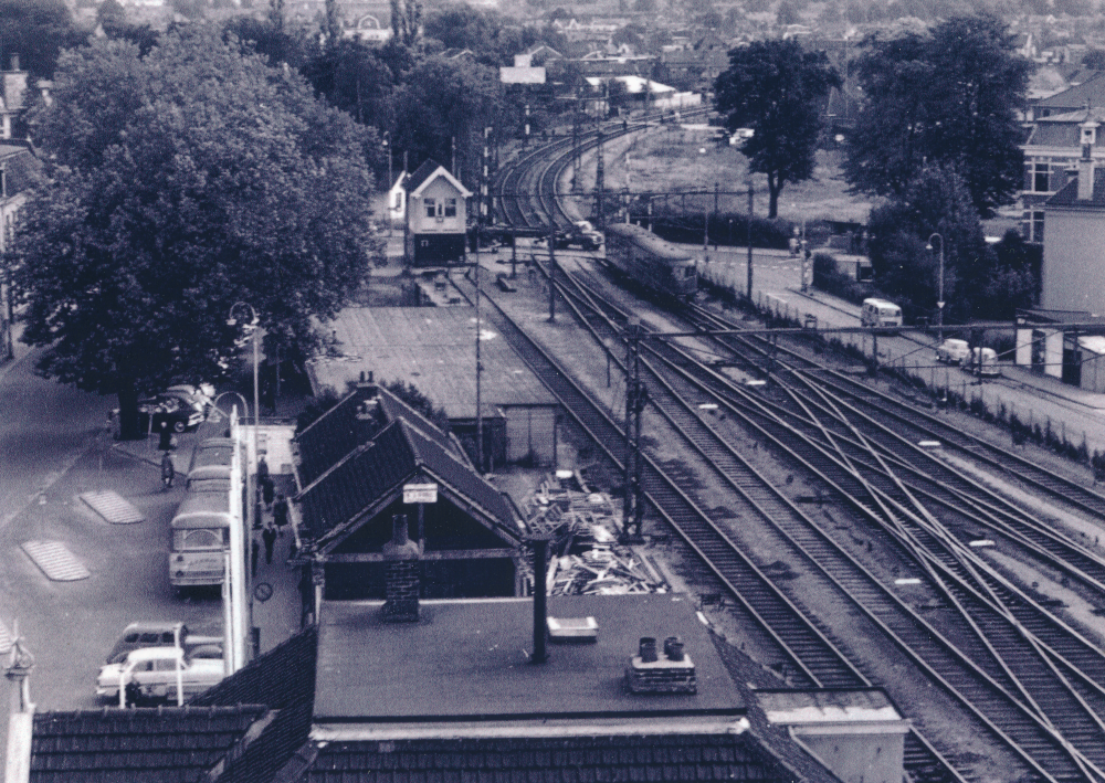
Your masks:
{"label": "dark tiled slope running down the flat roof's left edge", "polygon": [[318,629],[311,626],[192,700],[209,705],[260,701],[280,710],[259,737],[234,754],[219,783],[271,781],[307,742],[317,649]]}

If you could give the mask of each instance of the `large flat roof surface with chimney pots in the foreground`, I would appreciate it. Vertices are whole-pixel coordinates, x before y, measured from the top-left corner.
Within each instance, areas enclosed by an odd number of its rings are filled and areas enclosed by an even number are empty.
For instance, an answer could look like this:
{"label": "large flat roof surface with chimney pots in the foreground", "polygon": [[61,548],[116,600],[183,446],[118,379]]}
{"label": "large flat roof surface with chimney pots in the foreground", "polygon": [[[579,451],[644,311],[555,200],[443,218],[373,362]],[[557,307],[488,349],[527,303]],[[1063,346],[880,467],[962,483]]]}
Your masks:
{"label": "large flat roof surface with chimney pots in the foreground", "polygon": [[[422,601],[418,623],[386,623],[380,605],[324,603],[316,724],[627,717],[732,721],[744,713],[686,595],[549,596],[550,616],[593,616],[598,641],[550,645],[549,660],[540,666],[527,663],[534,622],[529,599]],[[625,667],[642,636],[682,637],[695,665],[697,694],[640,697],[624,687]]]}

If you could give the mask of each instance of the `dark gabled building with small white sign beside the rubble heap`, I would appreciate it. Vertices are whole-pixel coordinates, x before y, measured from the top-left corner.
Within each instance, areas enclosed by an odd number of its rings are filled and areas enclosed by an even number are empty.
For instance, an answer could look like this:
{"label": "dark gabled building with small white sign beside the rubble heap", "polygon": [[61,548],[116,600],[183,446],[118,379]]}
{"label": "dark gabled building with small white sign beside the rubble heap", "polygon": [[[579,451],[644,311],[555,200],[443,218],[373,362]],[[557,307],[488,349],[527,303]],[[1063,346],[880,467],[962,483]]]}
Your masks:
{"label": "dark gabled building with small white sign beside the rubble heap", "polygon": [[[400,523],[418,549],[423,597],[520,592],[524,528],[514,506],[454,437],[387,389],[358,385],[295,444],[302,557],[320,597],[383,597],[387,544]],[[412,500],[411,487],[429,499]]]}

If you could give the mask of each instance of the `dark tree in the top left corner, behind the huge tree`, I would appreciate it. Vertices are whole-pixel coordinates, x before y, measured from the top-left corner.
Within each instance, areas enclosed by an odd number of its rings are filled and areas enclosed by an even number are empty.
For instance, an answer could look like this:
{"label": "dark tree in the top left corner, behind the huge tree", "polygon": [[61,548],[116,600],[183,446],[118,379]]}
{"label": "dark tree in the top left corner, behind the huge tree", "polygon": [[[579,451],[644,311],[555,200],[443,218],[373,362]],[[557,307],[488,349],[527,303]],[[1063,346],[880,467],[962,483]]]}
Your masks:
{"label": "dark tree in the top left corner, behind the huge tree", "polygon": [[19,66],[34,80],[50,78],[57,53],[86,38],[73,25],[63,0],[0,0],[0,67],[18,54]]}

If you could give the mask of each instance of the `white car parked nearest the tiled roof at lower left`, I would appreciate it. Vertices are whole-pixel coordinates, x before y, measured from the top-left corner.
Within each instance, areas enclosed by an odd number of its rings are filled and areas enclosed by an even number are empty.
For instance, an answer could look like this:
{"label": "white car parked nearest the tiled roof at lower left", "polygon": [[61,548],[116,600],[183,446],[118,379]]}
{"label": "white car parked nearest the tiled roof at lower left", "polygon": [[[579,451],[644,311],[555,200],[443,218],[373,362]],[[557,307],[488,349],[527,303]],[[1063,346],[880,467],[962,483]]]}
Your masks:
{"label": "white car parked nearest the tiled roof at lower left", "polygon": [[118,664],[99,667],[96,696],[118,699],[119,687],[126,690],[134,681],[146,699],[181,700],[218,685],[225,676],[222,658],[190,658],[179,647],[141,647],[133,649]]}

